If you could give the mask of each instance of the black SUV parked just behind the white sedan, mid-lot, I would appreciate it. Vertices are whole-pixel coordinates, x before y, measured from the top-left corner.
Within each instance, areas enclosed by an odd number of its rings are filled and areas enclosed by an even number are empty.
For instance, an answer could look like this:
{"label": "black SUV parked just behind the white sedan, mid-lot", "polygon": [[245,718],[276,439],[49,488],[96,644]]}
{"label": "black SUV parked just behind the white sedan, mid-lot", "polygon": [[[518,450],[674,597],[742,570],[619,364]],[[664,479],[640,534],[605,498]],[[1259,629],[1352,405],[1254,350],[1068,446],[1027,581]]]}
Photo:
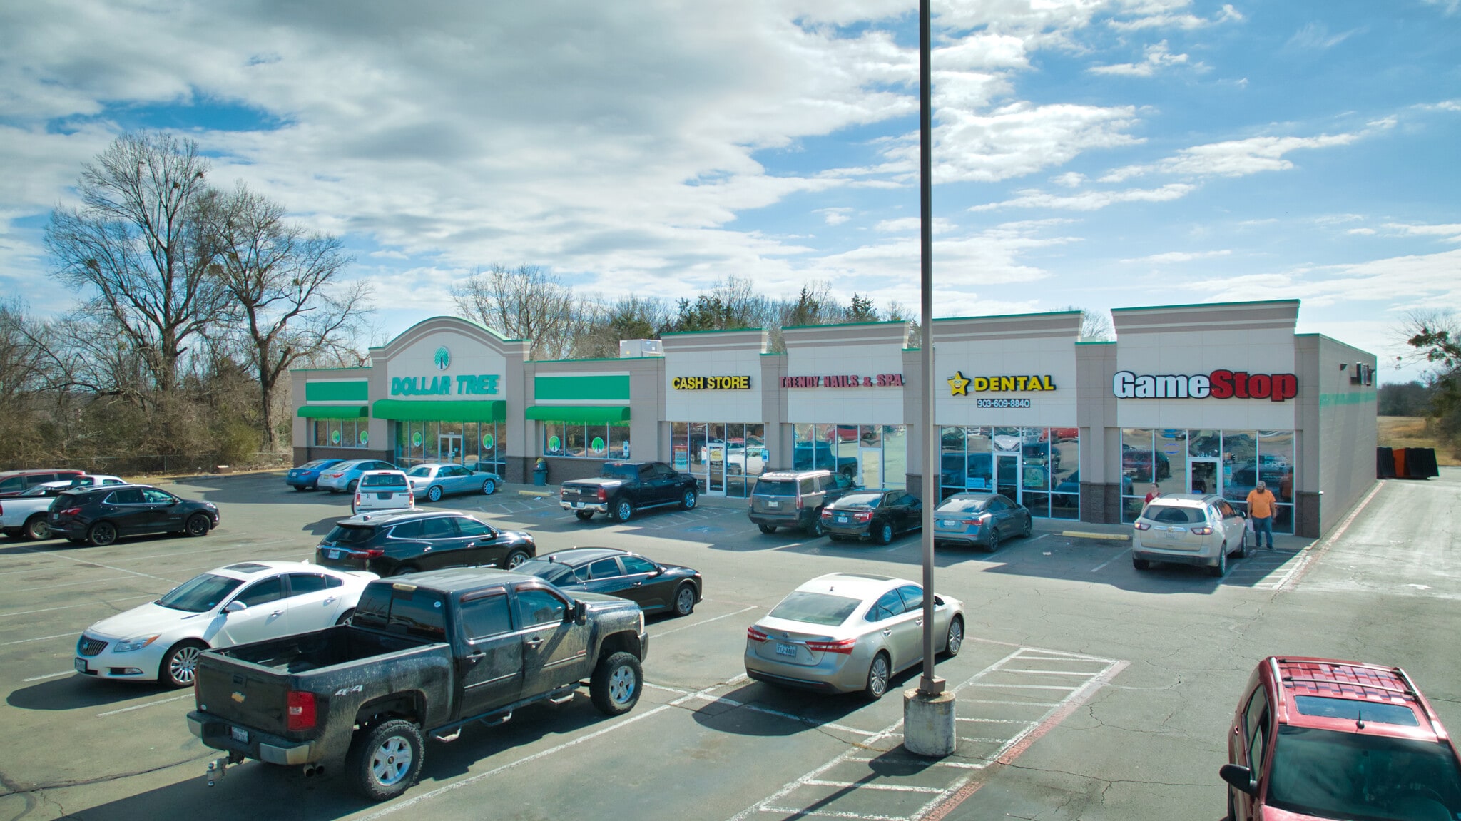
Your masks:
{"label": "black SUV parked just behind the white sedan, mid-lot", "polygon": [[387,510],[340,520],[314,562],[400,576],[444,567],[513,568],[538,555],[533,538],[456,510]]}

